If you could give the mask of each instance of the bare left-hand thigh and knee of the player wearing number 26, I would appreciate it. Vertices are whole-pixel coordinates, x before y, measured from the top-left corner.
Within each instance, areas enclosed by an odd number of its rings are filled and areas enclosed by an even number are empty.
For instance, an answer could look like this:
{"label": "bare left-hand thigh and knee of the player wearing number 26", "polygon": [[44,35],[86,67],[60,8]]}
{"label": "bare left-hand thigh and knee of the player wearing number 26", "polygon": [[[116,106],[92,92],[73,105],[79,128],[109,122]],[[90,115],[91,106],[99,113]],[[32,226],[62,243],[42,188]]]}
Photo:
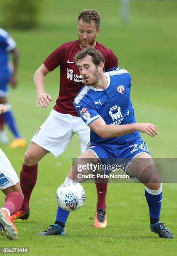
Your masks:
{"label": "bare left-hand thigh and knee of the player wearing number 26", "polygon": [[96,166],[98,162],[99,160],[97,159],[97,156],[91,150],[86,150],[73,163],[68,178],[77,182],[83,182],[84,180],[89,179],[84,176],[94,174],[93,166]]}

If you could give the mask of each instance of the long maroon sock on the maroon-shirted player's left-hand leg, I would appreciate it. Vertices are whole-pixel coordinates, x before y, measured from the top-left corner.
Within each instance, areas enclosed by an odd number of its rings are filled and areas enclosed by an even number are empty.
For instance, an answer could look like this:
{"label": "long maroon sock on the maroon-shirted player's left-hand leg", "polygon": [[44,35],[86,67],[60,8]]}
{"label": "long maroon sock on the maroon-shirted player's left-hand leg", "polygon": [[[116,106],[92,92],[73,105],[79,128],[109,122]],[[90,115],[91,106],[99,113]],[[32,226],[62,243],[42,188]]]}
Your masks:
{"label": "long maroon sock on the maroon-shirted player's left-hand leg", "polygon": [[21,210],[26,212],[29,209],[30,196],[32,189],[35,187],[37,180],[37,164],[34,166],[27,166],[22,164],[20,172],[20,186],[24,195],[24,201]]}

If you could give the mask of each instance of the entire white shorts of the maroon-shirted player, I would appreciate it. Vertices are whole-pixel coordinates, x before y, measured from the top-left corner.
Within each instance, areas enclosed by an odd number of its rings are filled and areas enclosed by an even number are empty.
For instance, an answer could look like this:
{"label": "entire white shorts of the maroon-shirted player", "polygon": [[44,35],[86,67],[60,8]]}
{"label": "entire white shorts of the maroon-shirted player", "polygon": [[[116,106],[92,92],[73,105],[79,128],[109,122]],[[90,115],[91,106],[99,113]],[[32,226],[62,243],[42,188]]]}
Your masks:
{"label": "entire white shorts of the maroon-shirted player", "polygon": [[83,152],[90,140],[90,128],[82,121],[82,118],[62,114],[53,109],[31,141],[57,157],[65,151],[75,133],[80,138],[81,152]]}

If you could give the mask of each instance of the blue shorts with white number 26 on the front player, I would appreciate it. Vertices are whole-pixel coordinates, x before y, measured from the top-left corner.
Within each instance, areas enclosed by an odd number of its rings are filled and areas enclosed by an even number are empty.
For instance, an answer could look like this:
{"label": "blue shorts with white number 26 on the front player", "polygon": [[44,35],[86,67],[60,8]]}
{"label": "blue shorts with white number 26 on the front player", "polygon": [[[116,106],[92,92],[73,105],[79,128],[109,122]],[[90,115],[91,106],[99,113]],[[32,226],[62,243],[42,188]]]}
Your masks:
{"label": "blue shorts with white number 26 on the front player", "polygon": [[[149,149],[142,138],[124,146],[97,144],[91,142],[87,150],[93,151],[104,165],[122,165],[123,167],[121,169],[124,172],[126,172],[132,159],[134,159],[138,154],[147,153],[151,156]],[[110,174],[112,170],[104,169],[104,172],[107,175]]]}

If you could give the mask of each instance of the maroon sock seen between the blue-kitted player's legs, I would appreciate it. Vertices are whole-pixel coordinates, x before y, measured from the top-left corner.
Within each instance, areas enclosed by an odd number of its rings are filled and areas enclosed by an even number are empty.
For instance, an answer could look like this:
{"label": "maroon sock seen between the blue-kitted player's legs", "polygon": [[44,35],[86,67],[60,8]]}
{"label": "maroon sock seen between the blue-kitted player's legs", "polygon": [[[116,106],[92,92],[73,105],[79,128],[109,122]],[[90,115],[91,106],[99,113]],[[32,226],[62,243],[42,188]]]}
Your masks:
{"label": "maroon sock seen between the blue-kitted player's legs", "polygon": [[104,179],[105,183],[99,183],[102,181],[103,179],[95,179],[95,185],[97,187],[97,196],[98,196],[97,208],[106,210],[106,194],[107,194],[108,179]]}

